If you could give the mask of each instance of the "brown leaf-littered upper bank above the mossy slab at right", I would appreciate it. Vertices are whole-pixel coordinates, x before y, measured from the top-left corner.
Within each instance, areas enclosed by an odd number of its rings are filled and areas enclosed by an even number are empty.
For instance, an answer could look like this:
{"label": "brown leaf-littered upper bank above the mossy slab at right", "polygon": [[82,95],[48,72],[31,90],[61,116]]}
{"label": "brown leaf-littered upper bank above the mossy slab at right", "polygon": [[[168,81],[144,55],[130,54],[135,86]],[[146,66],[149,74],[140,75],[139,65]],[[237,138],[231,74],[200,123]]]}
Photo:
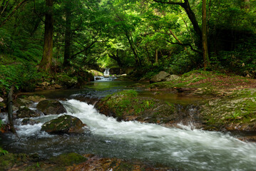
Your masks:
{"label": "brown leaf-littered upper bank above the mossy slab at right", "polygon": [[148,88],[195,88],[199,94],[217,95],[220,89],[250,87],[255,80],[242,76],[227,76],[224,73],[214,71],[190,71],[179,79],[152,83]]}

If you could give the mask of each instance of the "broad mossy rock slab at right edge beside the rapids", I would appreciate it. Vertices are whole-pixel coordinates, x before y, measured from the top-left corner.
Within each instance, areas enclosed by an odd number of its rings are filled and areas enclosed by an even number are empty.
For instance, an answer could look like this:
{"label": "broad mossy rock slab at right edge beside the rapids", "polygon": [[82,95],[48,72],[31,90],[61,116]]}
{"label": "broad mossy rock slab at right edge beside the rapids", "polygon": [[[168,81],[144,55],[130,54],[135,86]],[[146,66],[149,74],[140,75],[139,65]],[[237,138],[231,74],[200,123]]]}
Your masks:
{"label": "broad mossy rock slab at right edge beside the rapids", "polygon": [[223,98],[210,100],[202,115],[209,128],[255,130],[256,89],[235,90]]}

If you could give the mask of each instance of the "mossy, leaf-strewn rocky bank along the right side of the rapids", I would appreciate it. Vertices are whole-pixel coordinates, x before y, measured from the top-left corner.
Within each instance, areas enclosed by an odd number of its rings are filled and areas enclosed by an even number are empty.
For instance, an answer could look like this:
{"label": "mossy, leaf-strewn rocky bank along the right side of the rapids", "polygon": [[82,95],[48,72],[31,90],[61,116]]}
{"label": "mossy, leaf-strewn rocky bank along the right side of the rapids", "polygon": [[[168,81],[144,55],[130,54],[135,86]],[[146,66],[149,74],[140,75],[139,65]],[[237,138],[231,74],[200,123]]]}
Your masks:
{"label": "mossy, leaf-strewn rocky bank along the right side of the rapids", "polygon": [[[227,76],[222,73],[209,71],[192,71],[185,73],[173,81],[163,81],[159,83],[135,84],[133,88],[143,88],[144,90],[155,92],[173,92],[186,95],[190,98],[200,97],[204,100],[198,105],[198,121],[201,128],[205,130],[240,130],[256,131],[256,80],[242,76]],[[134,94],[134,93],[133,93]],[[143,104],[145,103],[145,104]],[[102,113],[116,116],[119,120],[140,120],[149,123],[174,123],[180,122],[178,109],[175,103],[160,105],[155,99],[143,99],[129,95],[128,92],[116,93],[101,100],[96,105]],[[161,106],[164,111],[156,111]],[[175,109],[175,110],[174,110]],[[145,113],[155,113],[149,117]],[[139,112],[138,112],[139,111]],[[169,114],[168,114],[169,113]],[[188,118],[189,115],[183,116]],[[147,118],[148,121],[145,120]],[[150,119],[149,119],[150,118]],[[158,119],[152,119],[158,118]],[[163,121],[165,120],[165,121]]]}

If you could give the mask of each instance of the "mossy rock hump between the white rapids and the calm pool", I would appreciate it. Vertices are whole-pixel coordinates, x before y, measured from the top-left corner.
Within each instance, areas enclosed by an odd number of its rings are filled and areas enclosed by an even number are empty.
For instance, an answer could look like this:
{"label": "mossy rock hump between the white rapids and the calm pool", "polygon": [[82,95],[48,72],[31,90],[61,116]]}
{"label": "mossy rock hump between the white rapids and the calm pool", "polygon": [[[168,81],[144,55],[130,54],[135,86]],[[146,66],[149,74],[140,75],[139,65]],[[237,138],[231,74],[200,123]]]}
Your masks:
{"label": "mossy rock hump between the white rapids and the calm pool", "polygon": [[138,97],[135,90],[124,90],[103,98],[96,108],[118,120],[139,120],[147,123],[178,122],[186,115],[178,112],[178,105],[154,98]]}

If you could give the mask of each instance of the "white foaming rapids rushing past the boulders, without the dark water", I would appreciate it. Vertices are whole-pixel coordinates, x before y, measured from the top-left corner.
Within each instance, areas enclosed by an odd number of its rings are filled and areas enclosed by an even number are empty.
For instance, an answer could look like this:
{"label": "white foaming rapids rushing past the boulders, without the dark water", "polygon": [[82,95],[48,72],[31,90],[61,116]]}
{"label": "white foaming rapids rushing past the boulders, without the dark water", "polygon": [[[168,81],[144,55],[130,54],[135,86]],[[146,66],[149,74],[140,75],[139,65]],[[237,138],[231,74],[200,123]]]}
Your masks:
{"label": "white foaming rapids rushing past the boulders, without the dark water", "polygon": [[[179,129],[137,121],[118,122],[98,113],[93,105],[78,100],[61,103],[67,109],[66,114],[80,118],[88,125],[91,135],[106,139],[104,143],[110,143],[107,147],[113,148],[109,151],[118,149],[117,145],[124,142],[122,149],[116,152],[117,157],[134,156],[182,170],[256,170],[256,145],[253,142],[242,142],[219,132],[191,130],[186,126]],[[21,138],[52,138],[56,135],[41,132],[41,125],[58,116],[36,118],[41,123],[35,125],[17,125],[17,133]],[[80,138],[76,140],[82,141]],[[81,145],[87,145],[87,142],[81,142]]]}

